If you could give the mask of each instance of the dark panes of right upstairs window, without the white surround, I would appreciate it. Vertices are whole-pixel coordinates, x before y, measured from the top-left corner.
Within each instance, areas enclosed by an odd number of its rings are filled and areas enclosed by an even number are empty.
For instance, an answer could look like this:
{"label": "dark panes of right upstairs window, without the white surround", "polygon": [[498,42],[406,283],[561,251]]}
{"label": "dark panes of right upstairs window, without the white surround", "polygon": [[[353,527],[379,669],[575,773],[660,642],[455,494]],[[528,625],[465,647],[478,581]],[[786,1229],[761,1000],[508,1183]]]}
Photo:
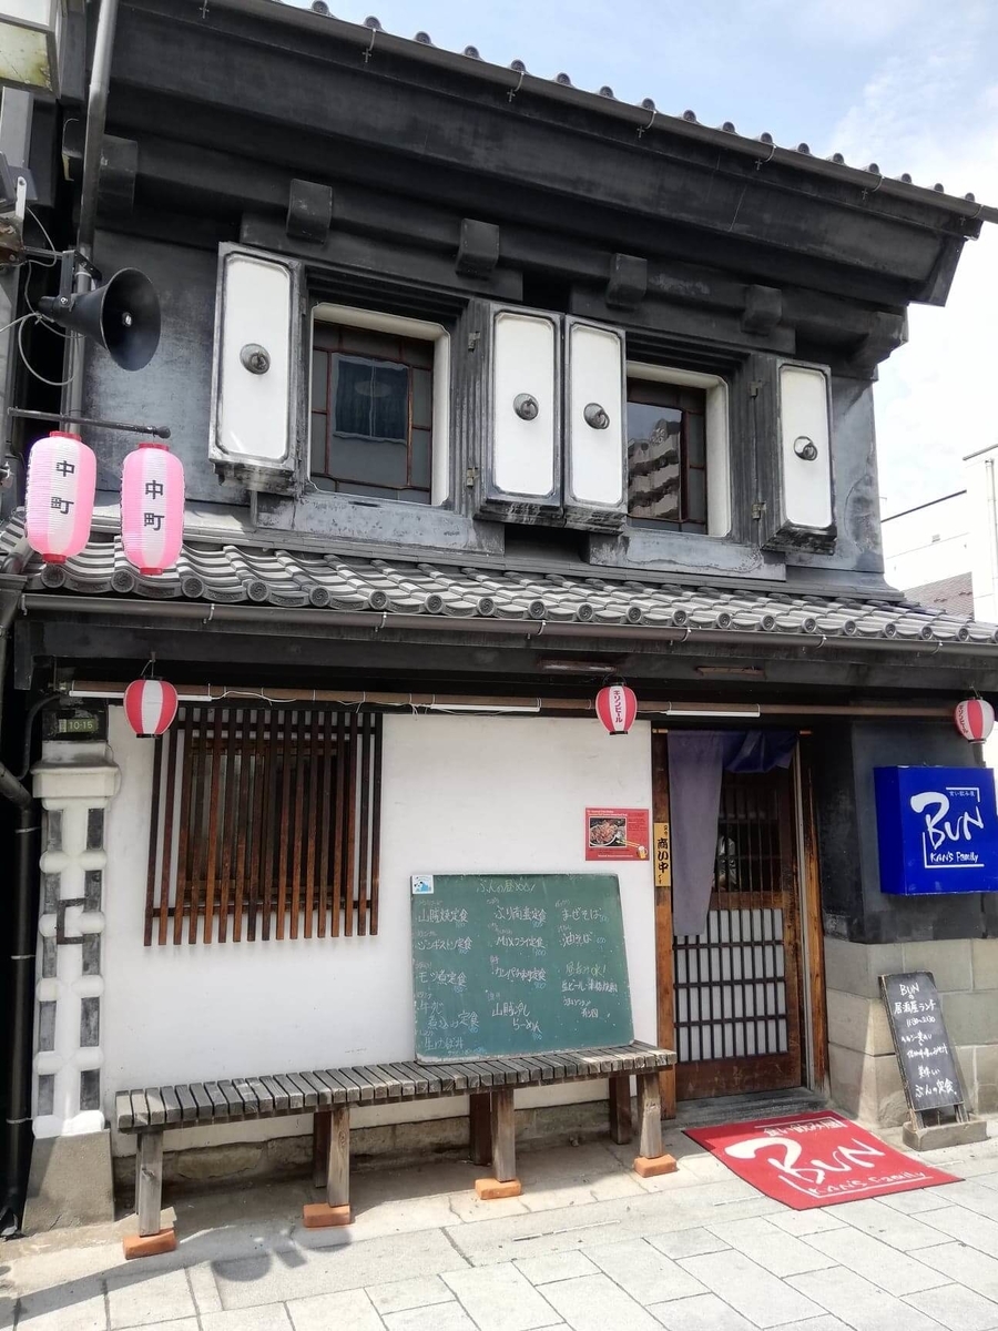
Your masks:
{"label": "dark panes of right upstairs window, without the white surround", "polygon": [[707,393],[627,382],[627,510],[676,531],[707,531]]}

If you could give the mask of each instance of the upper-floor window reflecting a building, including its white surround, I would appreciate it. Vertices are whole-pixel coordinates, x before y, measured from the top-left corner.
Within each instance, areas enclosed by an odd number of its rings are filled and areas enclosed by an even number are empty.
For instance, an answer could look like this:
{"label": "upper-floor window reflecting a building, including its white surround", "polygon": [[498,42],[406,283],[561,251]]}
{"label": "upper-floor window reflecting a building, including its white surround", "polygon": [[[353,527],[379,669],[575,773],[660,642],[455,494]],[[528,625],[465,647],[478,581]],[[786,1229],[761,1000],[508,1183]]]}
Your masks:
{"label": "upper-floor window reflecting a building, including its white surround", "polygon": [[627,365],[627,511],[659,531],[731,530],[728,385],[713,374]]}

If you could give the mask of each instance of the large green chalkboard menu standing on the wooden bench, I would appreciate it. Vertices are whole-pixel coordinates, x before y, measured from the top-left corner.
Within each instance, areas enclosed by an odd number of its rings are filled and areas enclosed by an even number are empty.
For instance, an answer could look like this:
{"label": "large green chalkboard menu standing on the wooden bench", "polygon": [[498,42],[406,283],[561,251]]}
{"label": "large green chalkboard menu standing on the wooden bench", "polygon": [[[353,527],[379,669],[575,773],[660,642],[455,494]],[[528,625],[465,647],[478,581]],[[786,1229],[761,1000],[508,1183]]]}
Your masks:
{"label": "large green chalkboard menu standing on the wooden bench", "polygon": [[629,1044],[616,874],[414,877],[413,988],[418,1058]]}

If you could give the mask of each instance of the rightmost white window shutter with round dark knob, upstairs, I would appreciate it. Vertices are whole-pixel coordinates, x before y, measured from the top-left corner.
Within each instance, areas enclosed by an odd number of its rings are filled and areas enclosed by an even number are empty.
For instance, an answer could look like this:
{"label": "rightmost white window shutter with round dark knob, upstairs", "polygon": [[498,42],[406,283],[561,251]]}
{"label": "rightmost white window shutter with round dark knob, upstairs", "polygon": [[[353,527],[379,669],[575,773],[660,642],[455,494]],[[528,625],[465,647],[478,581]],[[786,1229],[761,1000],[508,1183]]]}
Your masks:
{"label": "rightmost white window shutter with round dark knob, upstairs", "polygon": [[826,548],[836,535],[832,478],[832,410],[828,371],[780,366],[780,494],[776,539],[784,546]]}

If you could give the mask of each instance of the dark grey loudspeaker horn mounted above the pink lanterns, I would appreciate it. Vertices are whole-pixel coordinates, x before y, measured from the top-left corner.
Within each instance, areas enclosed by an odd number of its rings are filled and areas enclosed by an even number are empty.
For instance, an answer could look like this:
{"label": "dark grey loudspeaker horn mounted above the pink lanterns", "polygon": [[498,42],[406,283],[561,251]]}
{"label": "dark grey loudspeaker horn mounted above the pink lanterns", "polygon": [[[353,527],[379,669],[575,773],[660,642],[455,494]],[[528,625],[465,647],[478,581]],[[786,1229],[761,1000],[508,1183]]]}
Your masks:
{"label": "dark grey loudspeaker horn mounted above the pink lanterns", "polygon": [[93,338],[122,370],[141,370],[160,345],[160,298],[137,268],[122,268],[83,295],[45,295],[39,313]]}

